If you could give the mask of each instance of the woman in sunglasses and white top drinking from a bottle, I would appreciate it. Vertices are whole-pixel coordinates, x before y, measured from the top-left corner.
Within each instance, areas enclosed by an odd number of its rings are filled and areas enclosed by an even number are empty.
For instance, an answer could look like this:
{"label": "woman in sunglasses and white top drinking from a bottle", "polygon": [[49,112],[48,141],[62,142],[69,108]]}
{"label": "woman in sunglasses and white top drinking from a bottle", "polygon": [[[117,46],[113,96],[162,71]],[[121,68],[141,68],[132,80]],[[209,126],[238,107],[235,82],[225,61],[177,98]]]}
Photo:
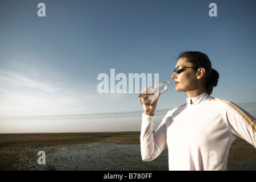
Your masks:
{"label": "woman in sunglasses and white top drinking from a bottle", "polygon": [[[256,122],[245,110],[209,95],[219,74],[202,52],[183,52],[171,78],[187,103],[168,111],[153,134],[157,100],[143,104],[141,155],[158,157],[168,147],[170,170],[227,170],[231,143],[238,137],[256,147]],[[143,94],[143,97],[147,97]]]}

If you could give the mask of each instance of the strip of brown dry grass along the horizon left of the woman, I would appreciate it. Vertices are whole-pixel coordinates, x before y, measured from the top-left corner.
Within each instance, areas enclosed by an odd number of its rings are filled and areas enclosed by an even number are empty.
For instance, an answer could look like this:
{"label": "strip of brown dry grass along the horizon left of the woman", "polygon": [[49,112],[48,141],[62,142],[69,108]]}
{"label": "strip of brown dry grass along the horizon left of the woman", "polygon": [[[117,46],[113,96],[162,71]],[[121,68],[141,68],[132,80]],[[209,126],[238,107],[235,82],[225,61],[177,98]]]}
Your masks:
{"label": "strip of brown dry grass along the horizon left of the woman", "polygon": [[139,132],[0,134],[0,147],[50,146],[103,142],[105,140],[139,144]]}

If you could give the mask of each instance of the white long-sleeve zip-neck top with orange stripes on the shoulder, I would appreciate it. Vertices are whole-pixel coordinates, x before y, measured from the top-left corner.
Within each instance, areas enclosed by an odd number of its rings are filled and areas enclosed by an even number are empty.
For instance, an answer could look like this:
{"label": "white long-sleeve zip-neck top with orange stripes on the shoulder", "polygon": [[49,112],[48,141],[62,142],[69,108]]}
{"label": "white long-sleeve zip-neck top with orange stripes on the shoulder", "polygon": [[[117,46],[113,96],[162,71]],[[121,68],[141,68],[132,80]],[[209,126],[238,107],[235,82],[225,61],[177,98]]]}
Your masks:
{"label": "white long-sleeve zip-neck top with orange stripes on the shoulder", "polygon": [[170,170],[227,170],[229,148],[238,137],[256,148],[255,118],[207,93],[168,111],[154,134],[153,119],[142,114],[142,159],[154,160],[168,147]]}

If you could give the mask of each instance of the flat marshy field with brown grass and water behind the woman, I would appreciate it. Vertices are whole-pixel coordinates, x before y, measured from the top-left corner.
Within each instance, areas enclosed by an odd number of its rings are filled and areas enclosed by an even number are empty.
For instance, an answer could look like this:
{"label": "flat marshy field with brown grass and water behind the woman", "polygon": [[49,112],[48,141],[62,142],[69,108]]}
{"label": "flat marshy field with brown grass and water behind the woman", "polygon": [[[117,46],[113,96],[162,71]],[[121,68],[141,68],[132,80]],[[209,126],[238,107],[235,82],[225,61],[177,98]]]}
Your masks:
{"label": "flat marshy field with brown grass and water behind the woman", "polygon": [[[155,171],[168,170],[167,149],[143,162],[139,131],[113,133],[0,134],[0,170]],[[38,164],[39,151],[46,164]],[[243,139],[232,144],[228,170],[256,170],[256,149]]]}

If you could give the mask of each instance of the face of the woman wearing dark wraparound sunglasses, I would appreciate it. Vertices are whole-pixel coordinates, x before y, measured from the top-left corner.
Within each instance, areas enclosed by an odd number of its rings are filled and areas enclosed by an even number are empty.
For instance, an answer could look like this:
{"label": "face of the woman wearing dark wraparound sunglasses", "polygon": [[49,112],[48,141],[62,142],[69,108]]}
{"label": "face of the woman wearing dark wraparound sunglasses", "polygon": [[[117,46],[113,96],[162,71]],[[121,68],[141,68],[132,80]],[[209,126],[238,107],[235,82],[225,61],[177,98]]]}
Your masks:
{"label": "face of the woman wearing dark wraparound sunglasses", "polygon": [[[193,67],[193,64],[189,63],[185,57],[181,57],[175,68],[178,67]],[[171,78],[175,81],[177,92],[193,91],[198,88],[197,69],[184,68],[184,71],[179,74],[174,72]]]}

